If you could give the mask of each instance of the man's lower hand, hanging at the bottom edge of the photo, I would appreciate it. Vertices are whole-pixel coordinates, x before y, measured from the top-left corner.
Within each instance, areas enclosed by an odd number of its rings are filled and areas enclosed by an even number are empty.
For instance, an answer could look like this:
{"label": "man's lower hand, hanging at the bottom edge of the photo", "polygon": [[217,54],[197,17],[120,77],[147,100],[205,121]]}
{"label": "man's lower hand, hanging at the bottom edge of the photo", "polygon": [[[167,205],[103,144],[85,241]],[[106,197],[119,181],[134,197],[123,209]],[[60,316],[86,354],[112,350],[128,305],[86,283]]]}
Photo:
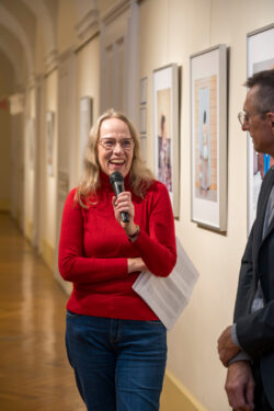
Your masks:
{"label": "man's lower hand, hanging at the bottom edge of the photo", "polygon": [[225,388],[229,406],[235,411],[253,410],[254,379],[248,362],[237,361],[229,365]]}

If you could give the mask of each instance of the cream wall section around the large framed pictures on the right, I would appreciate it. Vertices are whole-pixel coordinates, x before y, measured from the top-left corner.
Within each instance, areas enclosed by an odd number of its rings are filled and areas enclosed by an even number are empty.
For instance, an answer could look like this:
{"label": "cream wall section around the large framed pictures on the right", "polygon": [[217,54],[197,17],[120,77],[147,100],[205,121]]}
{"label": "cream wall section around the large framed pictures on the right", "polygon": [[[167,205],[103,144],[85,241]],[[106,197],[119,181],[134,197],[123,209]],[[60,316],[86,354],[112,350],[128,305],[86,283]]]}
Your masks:
{"label": "cream wall section around the large framed pictures on the right", "polygon": [[[144,0],[140,3],[140,70],[148,77],[148,161],[153,168],[152,71],[182,67],[180,220],[176,235],[201,273],[190,306],[169,333],[168,368],[210,411],[229,410],[217,338],[231,323],[241,255],[247,241],[247,135],[242,110],[247,33],[273,23],[270,0]],[[226,235],[191,221],[190,55],[225,43],[229,47],[228,229]]]}

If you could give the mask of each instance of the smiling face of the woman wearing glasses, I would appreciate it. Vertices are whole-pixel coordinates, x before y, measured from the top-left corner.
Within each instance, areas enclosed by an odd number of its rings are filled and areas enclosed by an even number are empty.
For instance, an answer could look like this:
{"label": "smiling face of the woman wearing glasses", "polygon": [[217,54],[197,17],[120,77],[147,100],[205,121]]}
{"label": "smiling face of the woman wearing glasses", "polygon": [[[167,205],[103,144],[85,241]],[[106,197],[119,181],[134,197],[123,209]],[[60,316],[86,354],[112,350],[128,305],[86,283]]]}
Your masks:
{"label": "smiling face of the woman wearing glasses", "polygon": [[119,171],[125,178],[132,167],[134,140],[126,123],[119,118],[106,118],[100,127],[98,161],[101,170],[111,175]]}

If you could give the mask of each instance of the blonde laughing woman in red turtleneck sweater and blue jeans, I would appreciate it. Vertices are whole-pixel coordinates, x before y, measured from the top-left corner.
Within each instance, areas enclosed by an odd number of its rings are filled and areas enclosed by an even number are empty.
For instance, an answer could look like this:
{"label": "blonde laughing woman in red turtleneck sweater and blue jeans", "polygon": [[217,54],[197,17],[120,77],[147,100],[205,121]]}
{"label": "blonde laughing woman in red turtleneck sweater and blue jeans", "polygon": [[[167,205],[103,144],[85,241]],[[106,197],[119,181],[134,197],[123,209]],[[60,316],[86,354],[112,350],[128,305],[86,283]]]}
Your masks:
{"label": "blonde laughing woman in red turtleneck sweater and blue jeans", "polygon": [[[114,171],[125,181],[117,197],[110,184]],[[159,410],[167,330],[132,286],[141,271],[168,276],[175,261],[168,191],[140,160],[132,123],[110,110],[91,130],[59,243],[60,274],[73,283],[67,352],[89,411]]]}

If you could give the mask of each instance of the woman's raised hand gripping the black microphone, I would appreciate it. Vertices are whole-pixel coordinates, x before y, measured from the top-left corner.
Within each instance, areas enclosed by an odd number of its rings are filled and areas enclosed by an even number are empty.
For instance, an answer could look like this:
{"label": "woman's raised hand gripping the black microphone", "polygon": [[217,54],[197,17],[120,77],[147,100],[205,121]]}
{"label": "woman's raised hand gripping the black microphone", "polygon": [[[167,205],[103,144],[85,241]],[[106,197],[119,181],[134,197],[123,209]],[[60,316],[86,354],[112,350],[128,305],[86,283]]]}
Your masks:
{"label": "woman's raised hand gripping the black microphone", "polygon": [[[132,202],[132,193],[124,191],[117,197],[112,198],[114,215],[118,224],[124,228],[127,236],[133,236],[136,232],[136,225],[134,224],[135,208]],[[123,222],[121,213],[125,212],[129,216],[129,222]]]}

